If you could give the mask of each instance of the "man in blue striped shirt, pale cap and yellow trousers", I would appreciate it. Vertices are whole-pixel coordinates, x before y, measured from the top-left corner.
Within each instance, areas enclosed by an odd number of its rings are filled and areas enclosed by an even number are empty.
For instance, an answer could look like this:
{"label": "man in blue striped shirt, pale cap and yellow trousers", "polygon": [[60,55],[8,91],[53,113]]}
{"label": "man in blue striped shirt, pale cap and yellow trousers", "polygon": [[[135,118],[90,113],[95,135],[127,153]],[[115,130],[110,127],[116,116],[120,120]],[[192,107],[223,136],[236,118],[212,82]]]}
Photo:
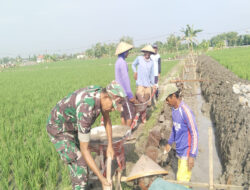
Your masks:
{"label": "man in blue striped shirt, pale cap and yellow trousers", "polygon": [[178,181],[190,181],[194,159],[198,153],[198,130],[195,117],[190,108],[181,100],[180,91],[175,84],[166,89],[166,102],[172,107],[173,128],[165,147],[169,152],[173,142],[176,143],[178,157]]}

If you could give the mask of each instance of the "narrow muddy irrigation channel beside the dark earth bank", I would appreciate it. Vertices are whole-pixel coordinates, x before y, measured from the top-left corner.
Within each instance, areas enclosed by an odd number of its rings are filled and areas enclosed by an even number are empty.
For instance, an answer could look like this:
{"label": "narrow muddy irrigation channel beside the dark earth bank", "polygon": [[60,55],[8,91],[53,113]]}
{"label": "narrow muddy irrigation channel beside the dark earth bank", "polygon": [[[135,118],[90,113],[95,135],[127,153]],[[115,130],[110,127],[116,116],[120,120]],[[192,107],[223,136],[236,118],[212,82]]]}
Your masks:
{"label": "narrow muddy irrigation channel beside the dark earth bank", "polygon": [[[192,60],[192,59],[191,59]],[[193,182],[209,182],[209,139],[208,129],[212,127],[213,122],[209,115],[209,109],[201,94],[200,82],[201,79],[196,73],[196,63],[193,64],[190,59],[184,63],[182,78],[186,80],[183,82],[183,101],[192,109],[195,114],[196,122],[199,132],[198,156],[195,160],[195,165],[192,170]],[[195,60],[196,61],[196,60]],[[191,62],[191,63],[190,63]],[[197,81],[195,81],[197,80]],[[213,133],[213,176],[214,183],[219,183],[219,178],[222,174],[222,166],[216,147],[216,137]],[[194,187],[193,189],[207,189],[201,187]]]}

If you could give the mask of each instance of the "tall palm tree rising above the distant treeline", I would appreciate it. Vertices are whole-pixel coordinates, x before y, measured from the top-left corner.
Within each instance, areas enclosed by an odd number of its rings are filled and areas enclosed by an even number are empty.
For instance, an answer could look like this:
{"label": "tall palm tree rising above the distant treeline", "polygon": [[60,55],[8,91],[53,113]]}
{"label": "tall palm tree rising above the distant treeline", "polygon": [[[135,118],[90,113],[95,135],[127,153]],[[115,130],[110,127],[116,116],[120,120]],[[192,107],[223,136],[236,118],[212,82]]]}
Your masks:
{"label": "tall palm tree rising above the distant treeline", "polygon": [[189,24],[187,24],[187,28],[186,29],[183,28],[181,32],[184,33],[183,39],[187,41],[188,49],[190,49],[191,52],[193,52],[193,44],[197,42],[195,37],[199,32],[202,32],[202,30],[201,29],[194,30],[193,26],[191,27],[189,26]]}

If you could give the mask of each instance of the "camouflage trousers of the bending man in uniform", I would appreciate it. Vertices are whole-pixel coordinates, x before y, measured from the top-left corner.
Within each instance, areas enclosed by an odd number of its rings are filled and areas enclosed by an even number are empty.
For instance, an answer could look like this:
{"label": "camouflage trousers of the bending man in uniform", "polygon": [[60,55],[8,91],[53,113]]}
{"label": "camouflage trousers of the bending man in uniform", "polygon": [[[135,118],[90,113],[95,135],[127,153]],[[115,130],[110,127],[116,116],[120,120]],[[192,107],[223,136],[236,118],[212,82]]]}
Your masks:
{"label": "camouflage trousers of the bending man in uniform", "polygon": [[83,159],[77,141],[63,139],[62,137],[56,138],[50,134],[49,136],[61,159],[68,165],[71,175],[72,189],[86,190],[88,181],[87,165]]}

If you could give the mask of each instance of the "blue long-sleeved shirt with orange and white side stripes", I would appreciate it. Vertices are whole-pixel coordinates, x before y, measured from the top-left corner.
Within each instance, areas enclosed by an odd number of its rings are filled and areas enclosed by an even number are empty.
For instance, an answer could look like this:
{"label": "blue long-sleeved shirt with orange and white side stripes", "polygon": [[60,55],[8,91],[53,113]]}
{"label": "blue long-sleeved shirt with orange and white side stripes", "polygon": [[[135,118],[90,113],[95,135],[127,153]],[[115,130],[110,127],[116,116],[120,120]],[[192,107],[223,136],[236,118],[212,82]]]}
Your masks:
{"label": "blue long-sleeved shirt with orange and white side stripes", "polygon": [[172,108],[172,120],[173,128],[168,144],[176,142],[176,152],[179,157],[196,157],[198,130],[193,112],[182,101],[177,109]]}

